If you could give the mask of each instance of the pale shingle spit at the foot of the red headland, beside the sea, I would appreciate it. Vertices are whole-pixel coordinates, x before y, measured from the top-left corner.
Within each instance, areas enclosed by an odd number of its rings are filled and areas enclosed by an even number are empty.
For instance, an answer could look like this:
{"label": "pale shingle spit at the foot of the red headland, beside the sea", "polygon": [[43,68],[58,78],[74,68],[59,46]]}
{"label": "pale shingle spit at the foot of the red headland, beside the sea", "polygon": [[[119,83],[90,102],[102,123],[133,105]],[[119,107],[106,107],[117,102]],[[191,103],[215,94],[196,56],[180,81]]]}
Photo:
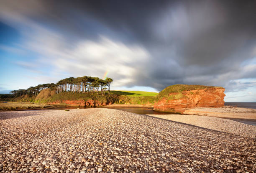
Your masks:
{"label": "pale shingle spit at the foot of the red headland, beside the sea", "polygon": [[231,106],[224,106],[218,108],[198,107],[186,110],[184,114],[256,120],[256,109]]}

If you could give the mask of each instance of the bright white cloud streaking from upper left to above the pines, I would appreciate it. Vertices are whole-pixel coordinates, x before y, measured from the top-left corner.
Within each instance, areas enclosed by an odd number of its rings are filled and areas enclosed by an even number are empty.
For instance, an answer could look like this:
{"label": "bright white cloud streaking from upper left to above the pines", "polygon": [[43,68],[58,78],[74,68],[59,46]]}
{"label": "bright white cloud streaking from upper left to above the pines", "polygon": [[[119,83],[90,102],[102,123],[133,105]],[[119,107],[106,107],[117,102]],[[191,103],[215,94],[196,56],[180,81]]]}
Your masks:
{"label": "bright white cloud streaking from upper left to above the pines", "polygon": [[18,61],[15,64],[28,67],[31,71],[38,71],[40,65],[41,69],[50,68],[48,73],[52,76],[69,74],[74,77],[88,75],[100,78],[105,71],[109,71],[108,76],[115,79],[113,86],[125,86],[136,83],[134,75],[139,73],[140,66],[150,56],[141,45],[125,45],[103,35],[99,35],[96,41],[71,43],[60,33],[39,25],[18,12],[8,13],[3,9],[0,14],[4,20],[14,21],[9,23],[13,27],[23,26],[20,28],[23,43],[19,48],[35,53],[36,56],[31,62]]}

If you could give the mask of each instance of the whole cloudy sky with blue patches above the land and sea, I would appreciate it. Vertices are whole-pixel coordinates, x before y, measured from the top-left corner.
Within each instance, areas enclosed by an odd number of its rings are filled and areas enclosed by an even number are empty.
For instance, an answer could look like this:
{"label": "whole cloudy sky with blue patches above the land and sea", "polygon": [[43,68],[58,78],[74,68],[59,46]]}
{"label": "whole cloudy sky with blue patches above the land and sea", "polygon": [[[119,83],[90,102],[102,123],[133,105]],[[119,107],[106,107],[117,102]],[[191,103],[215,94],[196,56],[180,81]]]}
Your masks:
{"label": "whole cloudy sky with blue patches above the land and sea", "polygon": [[223,86],[256,102],[255,0],[1,0],[0,93],[78,76],[111,90]]}

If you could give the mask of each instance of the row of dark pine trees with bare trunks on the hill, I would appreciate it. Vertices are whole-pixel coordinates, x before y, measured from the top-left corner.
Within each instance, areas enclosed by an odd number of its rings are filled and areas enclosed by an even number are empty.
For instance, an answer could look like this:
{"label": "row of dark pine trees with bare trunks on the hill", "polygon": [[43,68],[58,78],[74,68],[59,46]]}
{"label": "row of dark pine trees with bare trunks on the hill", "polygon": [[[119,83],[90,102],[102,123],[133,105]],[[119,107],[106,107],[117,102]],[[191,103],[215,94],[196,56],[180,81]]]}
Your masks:
{"label": "row of dark pine trees with bare trunks on the hill", "polygon": [[[106,78],[105,80],[98,77],[83,76],[83,77],[69,77],[66,79],[61,79],[56,84],[39,84],[37,86],[31,86],[28,89],[19,89],[13,90],[10,94],[13,94],[15,97],[27,94],[28,96],[35,96],[41,90],[50,88],[53,89],[56,93],[60,92],[77,92],[77,93],[92,93],[97,91],[99,94],[99,89],[101,94],[105,94],[105,90],[108,89],[108,94],[110,94],[110,84],[113,82],[113,79]],[[106,86],[108,88],[106,88]]]}

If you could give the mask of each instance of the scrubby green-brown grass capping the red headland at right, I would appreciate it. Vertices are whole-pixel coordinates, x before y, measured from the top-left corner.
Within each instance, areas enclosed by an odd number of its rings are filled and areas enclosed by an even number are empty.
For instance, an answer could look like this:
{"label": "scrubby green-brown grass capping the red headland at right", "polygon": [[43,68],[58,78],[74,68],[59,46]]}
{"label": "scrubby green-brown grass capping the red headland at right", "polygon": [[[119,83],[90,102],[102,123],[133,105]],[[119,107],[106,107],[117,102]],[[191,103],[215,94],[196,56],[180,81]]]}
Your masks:
{"label": "scrubby green-brown grass capping the red headland at right", "polygon": [[[182,92],[183,91],[190,91],[195,89],[206,89],[206,88],[223,88],[219,86],[205,86],[205,85],[184,85],[184,84],[176,84],[167,86],[165,89],[163,89],[159,94],[157,95],[157,100],[161,100],[162,98],[167,99],[181,99],[182,97],[185,97]],[[177,93],[175,95],[169,95],[170,93]]]}

